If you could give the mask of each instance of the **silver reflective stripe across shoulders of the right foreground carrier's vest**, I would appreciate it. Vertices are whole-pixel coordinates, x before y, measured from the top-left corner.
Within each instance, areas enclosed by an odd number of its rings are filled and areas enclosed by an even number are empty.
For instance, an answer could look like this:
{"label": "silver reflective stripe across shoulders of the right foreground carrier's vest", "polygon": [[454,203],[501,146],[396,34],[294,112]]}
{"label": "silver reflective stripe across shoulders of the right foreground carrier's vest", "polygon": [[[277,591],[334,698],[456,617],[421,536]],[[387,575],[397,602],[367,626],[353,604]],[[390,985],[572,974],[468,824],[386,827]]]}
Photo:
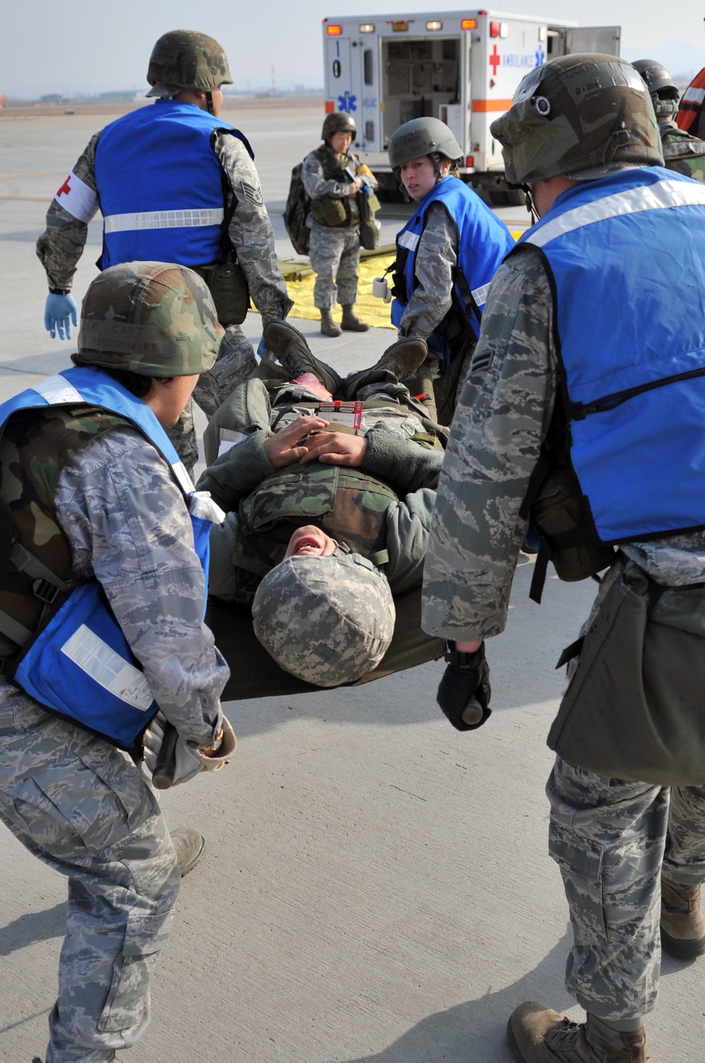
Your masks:
{"label": "silver reflective stripe across shoulders of the right foreground carrier's vest", "polygon": [[605,218],[618,218],[643,210],[663,210],[671,206],[705,206],[705,186],[697,181],[658,181],[655,185],[640,185],[614,196],[606,196],[595,203],[577,206],[560,218],[554,218],[536,233],[531,233],[522,241],[536,248],[555,240],[565,233],[571,233],[584,225]]}

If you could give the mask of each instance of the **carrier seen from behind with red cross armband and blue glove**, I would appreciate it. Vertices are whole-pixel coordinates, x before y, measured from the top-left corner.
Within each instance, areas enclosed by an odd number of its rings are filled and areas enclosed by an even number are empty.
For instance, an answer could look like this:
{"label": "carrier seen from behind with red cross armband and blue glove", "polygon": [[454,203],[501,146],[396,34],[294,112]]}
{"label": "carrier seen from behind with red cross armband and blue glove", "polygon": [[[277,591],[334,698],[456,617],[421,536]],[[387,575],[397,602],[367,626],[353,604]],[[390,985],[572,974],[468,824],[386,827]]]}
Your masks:
{"label": "carrier seen from behind with red cross armband and blue glove", "polygon": [[[47,213],[37,255],[49,281],[45,325],[71,337],[72,277],[88,222],[103,215],[100,268],[140,259],[195,269],[211,289],[225,333],[218,359],[194,389],[208,416],[257,366],[240,323],[252,299],[264,321],[292,307],[279,271],[274,233],[239,130],[220,117],[221,86],[233,82],[212,37],[172,30],[150,58],[148,96],[157,97],[91,137]],[[169,428],[185,465],[197,461],[190,401]]]}

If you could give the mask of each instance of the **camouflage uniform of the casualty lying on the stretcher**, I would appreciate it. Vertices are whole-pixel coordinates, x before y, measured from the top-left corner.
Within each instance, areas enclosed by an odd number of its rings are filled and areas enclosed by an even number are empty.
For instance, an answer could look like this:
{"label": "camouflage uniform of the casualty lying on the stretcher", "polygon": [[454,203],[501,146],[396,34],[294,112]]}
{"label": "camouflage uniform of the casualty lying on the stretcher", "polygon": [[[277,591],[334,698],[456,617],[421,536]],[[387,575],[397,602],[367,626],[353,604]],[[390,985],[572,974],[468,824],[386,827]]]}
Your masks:
{"label": "camouflage uniform of the casualty lying on the stretcher", "polygon": [[[272,382],[268,383],[271,389]],[[367,451],[359,471],[386,486],[379,501],[383,517],[381,541],[368,545],[389,553],[383,571],[393,593],[397,594],[420,583],[443,454],[441,450],[429,449],[433,445],[433,434],[423,423],[407,389],[397,384],[391,373],[366,373],[361,383],[359,398],[371,402],[377,400],[380,405],[375,403],[364,414],[362,428],[367,439]],[[231,557],[240,503],[268,477],[290,479],[292,492],[297,492],[300,490],[303,470],[331,470],[330,466],[321,462],[273,469],[264,453],[266,437],[272,431],[286,427],[296,417],[315,412],[320,400],[298,387],[282,389],[278,394],[275,390],[276,398],[271,403],[270,389],[265,382],[258,378],[241,385],[208,428],[208,435],[211,435],[220,423],[236,432],[247,433],[244,439],[210,465],[199,480],[199,488],[210,491],[218,504],[228,510],[225,524],[211,533],[210,587],[213,594],[224,600],[231,598],[235,593]],[[350,398],[349,393],[347,398]],[[282,409],[286,410],[283,416]],[[332,415],[324,416],[333,420]],[[425,445],[414,441],[413,437],[418,434],[424,437]],[[208,453],[208,440],[206,444]],[[311,512],[306,523],[316,524],[326,530],[316,499],[309,499],[308,494],[307,499]],[[272,513],[271,518],[276,520],[276,513]],[[359,511],[357,520],[357,535],[362,540],[365,514]],[[355,523],[356,514],[353,514]],[[351,550],[357,547],[355,540],[348,545]]]}

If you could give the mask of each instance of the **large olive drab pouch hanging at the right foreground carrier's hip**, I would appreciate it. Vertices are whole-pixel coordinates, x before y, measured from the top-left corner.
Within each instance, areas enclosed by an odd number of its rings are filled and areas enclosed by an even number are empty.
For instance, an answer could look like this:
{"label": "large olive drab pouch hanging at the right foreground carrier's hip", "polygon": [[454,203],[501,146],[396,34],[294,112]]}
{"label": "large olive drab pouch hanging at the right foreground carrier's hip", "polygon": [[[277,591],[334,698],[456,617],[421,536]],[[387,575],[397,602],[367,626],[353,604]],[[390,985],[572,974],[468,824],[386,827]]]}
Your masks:
{"label": "large olive drab pouch hanging at the right foreground carrier's hip", "polygon": [[606,577],[548,745],[598,775],[702,786],[703,690],[705,585],[663,587],[622,560]]}

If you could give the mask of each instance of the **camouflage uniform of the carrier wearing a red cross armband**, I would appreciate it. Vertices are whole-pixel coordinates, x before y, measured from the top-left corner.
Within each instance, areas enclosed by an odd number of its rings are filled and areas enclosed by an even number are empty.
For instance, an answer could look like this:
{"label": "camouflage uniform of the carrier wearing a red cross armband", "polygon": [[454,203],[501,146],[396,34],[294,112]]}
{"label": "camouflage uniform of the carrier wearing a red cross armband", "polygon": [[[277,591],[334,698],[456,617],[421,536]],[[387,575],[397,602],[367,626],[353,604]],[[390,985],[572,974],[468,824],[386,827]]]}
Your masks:
{"label": "camouflage uniform of the carrier wearing a red cross armband", "polygon": [[[100,135],[96,133],[91,137],[73,167],[75,175],[94,191],[96,150]],[[263,323],[285,318],[293,303],[279,272],[274,233],[255,165],[238,137],[228,133],[214,137],[213,151],[235,193],[236,209],[228,235],[247,277],[252,301],[262,315]],[[47,229],[37,240],[37,255],[47,271],[50,287],[70,289],[87,234],[87,223],[74,218],[54,199],[47,212]],[[242,328],[240,325],[228,325],[218,360],[208,373],[202,375],[193,398],[210,417],[236,385],[251,376],[256,368],[255,352]],[[178,424],[169,429],[169,435],[184,465],[191,470],[197,461],[199,452],[190,403]]]}

